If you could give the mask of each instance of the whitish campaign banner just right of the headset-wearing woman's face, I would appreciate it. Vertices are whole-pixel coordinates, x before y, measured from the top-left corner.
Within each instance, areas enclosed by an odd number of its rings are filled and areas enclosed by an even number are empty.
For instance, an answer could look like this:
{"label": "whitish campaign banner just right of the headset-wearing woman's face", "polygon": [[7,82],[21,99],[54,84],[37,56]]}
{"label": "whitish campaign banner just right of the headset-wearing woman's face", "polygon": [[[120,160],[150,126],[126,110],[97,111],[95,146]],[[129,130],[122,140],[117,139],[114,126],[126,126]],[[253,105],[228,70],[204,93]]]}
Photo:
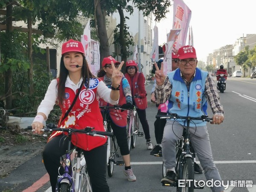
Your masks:
{"label": "whitish campaign banner just right of the headset-wearing woman's face", "polygon": [[97,76],[100,70],[99,42],[91,39],[91,50],[89,53],[90,70],[93,75]]}

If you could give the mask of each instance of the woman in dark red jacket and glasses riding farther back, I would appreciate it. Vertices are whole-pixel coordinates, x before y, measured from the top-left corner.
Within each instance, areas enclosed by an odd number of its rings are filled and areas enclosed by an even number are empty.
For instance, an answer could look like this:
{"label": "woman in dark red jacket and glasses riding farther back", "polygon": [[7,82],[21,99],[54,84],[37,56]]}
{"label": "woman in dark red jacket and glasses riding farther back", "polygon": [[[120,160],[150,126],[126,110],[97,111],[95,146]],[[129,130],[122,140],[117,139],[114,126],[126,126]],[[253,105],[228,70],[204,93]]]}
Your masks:
{"label": "woman in dark red jacket and glasses riding farther back", "polygon": [[140,96],[141,98],[133,98],[133,104],[136,106],[136,110],[142,125],[146,145],[148,149],[153,149],[151,143],[148,120],[146,118],[146,108],[148,107],[147,92],[145,90],[145,77],[143,73],[138,72],[137,64],[133,60],[126,62],[125,77],[131,86],[131,95]]}

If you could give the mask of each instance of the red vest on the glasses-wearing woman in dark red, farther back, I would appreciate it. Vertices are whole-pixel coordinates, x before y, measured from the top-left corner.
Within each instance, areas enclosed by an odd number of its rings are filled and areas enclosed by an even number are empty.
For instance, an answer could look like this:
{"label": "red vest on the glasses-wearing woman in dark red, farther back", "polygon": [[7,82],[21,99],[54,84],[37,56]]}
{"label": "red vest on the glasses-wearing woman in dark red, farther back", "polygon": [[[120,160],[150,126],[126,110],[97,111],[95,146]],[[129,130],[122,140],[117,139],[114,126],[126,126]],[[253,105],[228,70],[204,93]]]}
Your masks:
{"label": "red vest on the glasses-wearing woman in dark red, farther back", "polygon": [[[131,81],[131,77],[128,73],[125,73],[125,78],[128,80],[130,86],[131,86],[131,96],[135,96],[135,95],[140,95],[141,93],[141,87],[138,86],[138,81],[139,81],[139,76],[143,75],[142,73],[140,74],[140,72],[135,73],[133,80]],[[144,78],[144,82],[145,83],[145,78]],[[148,101],[147,101],[147,97],[145,97],[144,99],[141,98],[133,98],[134,102],[136,104],[136,107],[139,109],[146,109],[148,107]]]}

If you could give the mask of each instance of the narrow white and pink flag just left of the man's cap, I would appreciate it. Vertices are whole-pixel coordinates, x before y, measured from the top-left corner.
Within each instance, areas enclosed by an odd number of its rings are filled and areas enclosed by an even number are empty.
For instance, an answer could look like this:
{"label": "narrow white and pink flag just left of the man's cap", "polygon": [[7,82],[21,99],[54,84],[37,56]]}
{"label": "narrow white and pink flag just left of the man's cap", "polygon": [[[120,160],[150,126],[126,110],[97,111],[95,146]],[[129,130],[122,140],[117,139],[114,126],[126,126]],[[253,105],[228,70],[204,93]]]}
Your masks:
{"label": "narrow white and pink flag just left of the man's cap", "polygon": [[177,40],[181,29],[171,29],[166,43],[166,52],[163,56],[163,74],[172,71],[172,49],[174,42]]}

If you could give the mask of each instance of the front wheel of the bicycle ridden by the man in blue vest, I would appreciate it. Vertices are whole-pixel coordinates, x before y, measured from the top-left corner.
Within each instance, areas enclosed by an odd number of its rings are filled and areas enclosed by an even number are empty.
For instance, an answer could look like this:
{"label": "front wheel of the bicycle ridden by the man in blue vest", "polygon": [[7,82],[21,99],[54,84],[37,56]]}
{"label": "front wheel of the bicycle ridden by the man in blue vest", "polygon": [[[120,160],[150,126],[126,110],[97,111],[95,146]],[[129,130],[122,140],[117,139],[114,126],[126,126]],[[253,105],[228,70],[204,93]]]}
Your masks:
{"label": "front wheel of the bicycle ridden by the man in blue vest", "polygon": [[184,182],[183,187],[180,187],[180,192],[194,192],[194,165],[191,157],[184,157],[184,165],[180,179]]}

